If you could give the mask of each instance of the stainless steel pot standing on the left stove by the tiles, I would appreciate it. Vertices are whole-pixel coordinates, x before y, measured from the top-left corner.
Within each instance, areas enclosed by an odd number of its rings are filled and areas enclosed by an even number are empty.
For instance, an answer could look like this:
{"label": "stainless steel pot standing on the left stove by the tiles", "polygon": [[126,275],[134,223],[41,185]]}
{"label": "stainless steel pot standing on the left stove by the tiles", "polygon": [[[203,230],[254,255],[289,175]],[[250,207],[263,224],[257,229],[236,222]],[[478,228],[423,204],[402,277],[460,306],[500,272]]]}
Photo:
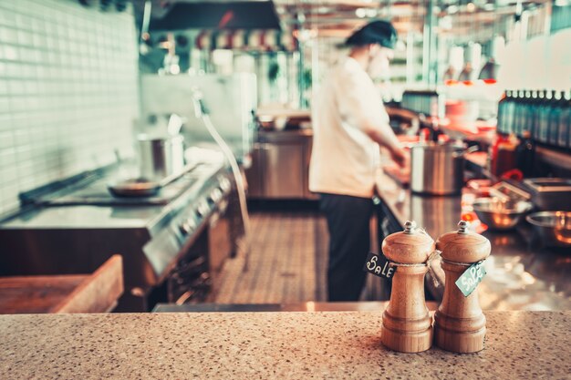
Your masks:
{"label": "stainless steel pot standing on the left stove by the tiles", "polygon": [[145,180],[162,180],[180,173],[184,168],[184,138],[175,136],[137,137],[140,150],[140,177]]}

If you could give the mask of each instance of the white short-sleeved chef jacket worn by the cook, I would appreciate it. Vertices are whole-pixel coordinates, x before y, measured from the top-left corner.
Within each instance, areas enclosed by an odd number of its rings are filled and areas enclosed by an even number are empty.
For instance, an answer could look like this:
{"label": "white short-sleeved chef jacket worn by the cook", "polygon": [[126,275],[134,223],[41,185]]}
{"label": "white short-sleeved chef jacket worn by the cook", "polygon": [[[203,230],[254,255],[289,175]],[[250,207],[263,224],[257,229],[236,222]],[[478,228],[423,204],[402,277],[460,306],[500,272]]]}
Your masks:
{"label": "white short-sleeved chef jacket worn by the cook", "polygon": [[309,190],[372,197],[379,145],[364,128],[379,128],[389,146],[399,141],[379,91],[355,59],[348,56],[332,67],[314,99],[311,120]]}

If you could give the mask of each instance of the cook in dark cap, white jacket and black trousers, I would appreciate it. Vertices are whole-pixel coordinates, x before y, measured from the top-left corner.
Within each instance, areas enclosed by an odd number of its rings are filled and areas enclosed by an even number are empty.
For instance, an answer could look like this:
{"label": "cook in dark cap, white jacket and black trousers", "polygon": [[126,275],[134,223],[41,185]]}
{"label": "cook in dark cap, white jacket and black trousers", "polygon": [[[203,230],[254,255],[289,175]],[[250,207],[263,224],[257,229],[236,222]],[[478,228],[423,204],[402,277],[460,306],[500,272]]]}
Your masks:
{"label": "cook in dark cap, white jacket and black trousers", "polygon": [[348,37],[348,56],[331,67],[312,105],[309,190],[320,194],[327,217],[329,301],[357,301],[365,283],[379,146],[400,166],[408,159],[371,79],[388,70],[396,40],[380,20]]}

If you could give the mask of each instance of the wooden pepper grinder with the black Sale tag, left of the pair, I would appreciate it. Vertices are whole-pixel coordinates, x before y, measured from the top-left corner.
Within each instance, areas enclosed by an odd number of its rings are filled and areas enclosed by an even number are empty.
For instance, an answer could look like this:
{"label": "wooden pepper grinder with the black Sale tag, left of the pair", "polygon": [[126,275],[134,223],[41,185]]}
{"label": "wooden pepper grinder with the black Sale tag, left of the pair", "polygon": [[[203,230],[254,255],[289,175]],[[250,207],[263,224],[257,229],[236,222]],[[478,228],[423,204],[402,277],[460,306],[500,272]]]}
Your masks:
{"label": "wooden pepper grinder with the black Sale tag, left of the pair", "polygon": [[382,252],[395,268],[389,306],[383,313],[381,342],[402,353],[420,353],[431,348],[432,320],[424,300],[426,261],[434,241],[416,229],[414,221],[405,231],[392,233],[382,242]]}

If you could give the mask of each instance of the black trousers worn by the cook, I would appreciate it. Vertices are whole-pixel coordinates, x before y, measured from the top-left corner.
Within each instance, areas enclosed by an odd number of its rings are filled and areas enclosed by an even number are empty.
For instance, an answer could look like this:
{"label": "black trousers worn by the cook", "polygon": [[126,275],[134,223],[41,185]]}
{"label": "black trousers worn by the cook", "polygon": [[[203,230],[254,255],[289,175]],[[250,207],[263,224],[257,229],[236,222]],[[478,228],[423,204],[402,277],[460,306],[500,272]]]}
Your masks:
{"label": "black trousers worn by the cook", "polygon": [[348,195],[320,195],[319,208],[327,217],[329,231],[327,299],[358,301],[367,274],[363,265],[370,250],[373,201]]}

